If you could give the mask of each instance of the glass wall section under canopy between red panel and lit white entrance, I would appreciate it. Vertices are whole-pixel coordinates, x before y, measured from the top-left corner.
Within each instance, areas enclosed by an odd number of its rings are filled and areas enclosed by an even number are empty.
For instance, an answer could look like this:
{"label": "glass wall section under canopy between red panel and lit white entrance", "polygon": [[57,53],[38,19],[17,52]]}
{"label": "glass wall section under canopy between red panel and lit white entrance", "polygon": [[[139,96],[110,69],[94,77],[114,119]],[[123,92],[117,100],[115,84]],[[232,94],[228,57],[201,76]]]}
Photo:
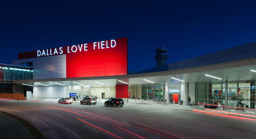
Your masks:
{"label": "glass wall section under canopy between red panel and lit white entrance", "polygon": [[164,88],[153,88],[153,86],[164,86],[164,84],[141,84],[141,98],[146,100],[154,100],[161,98],[161,101],[163,101]]}

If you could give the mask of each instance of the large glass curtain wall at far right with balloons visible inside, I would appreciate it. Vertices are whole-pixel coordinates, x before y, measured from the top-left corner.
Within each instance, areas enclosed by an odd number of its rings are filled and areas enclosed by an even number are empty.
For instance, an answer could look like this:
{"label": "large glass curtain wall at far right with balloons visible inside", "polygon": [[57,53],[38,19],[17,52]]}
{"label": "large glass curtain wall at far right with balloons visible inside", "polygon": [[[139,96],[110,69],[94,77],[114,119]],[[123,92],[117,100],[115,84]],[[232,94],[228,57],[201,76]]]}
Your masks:
{"label": "large glass curtain wall at far right with balloons visible inside", "polygon": [[255,108],[256,80],[228,81],[227,98],[225,96],[225,82],[195,83],[196,102],[206,104],[225,104],[241,108]]}

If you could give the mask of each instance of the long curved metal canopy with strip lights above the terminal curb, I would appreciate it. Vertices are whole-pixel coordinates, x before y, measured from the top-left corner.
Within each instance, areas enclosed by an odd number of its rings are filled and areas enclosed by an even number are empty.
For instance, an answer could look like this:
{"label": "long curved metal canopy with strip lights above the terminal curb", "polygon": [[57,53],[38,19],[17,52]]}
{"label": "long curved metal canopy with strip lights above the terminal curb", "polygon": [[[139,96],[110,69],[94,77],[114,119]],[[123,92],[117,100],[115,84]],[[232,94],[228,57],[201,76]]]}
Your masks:
{"label": "long curved metal canopy with strip lights above the terminal curb", "polygon": [[[115,84],[125,84],[119,82],[121,80],[128,84],[151,84],[148,81],[154,83],[182,83],[185,82],[201,82],[201,81],[224,81],[224,80],[248,80],[256,79],[256,72],[250,70],[256,70],[256,58],[237,60],[227,63],[219,63],[208,66],[193,67],[180,70],[164,71],[164,72],[152,72],[152,73],[142,73],[142,74],[130,74],[121,76],[101,76],[101,77],[81,77],[81,78],[58,78],[58,79],[41,79],[41,80],[14,80],[14,83],[18,84],[29,84],[33,86],[43,86],[40,84],[46,84],[49,86],[60,86],[55,83],[64,84],[66,86],[81,86],[79,84],[73,83],[77,82],[83,84],[83,86],[100,87],[100,86],[110,86]],[[215,76],[221,78],[218,80],[212,77],[205,76],[205,74],[210,76]],[[172,79],[171,77],[177,78],[179,80]],[[100,82],[102,84],[96,83]],[[37,84],[40,83],[40,84]]]}

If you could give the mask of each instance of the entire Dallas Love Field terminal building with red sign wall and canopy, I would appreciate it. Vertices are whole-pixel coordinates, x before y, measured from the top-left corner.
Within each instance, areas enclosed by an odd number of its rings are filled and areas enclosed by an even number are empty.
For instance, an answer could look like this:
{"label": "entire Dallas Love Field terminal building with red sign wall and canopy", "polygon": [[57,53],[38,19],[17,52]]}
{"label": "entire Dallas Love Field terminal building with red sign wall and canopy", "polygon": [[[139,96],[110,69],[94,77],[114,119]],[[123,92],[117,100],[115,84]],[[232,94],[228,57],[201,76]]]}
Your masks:
{"label": "entire Dallas Love Field terminal building with red sign wall and canopy", "polygon": [[168,104],[188,104],[191,96],[195,103],[255,108],[256,42],[170,64],[167,49],[157,48],[157,67],[132,74],[127,44],[120,38],[19,53],[12,64],[0,63],[0,93],[32,100],[75,94]]}

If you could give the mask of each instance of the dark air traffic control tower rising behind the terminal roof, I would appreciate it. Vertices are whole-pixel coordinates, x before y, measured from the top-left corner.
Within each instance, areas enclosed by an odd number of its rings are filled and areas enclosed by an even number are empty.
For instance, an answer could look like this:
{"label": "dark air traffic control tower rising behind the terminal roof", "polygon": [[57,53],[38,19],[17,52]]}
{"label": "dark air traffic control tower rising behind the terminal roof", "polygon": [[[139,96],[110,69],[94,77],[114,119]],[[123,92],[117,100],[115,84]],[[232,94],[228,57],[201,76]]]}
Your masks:
{"label": "dark air traffic control tower rising behind the terminal roof", "polygon": [[168,55],[166,54],[167,48],[166,47],[157,47],[156,52],[157,55],[155,56],[155,60],[157,60],[157,67],[165,65],[166,59],[168,59]]}

